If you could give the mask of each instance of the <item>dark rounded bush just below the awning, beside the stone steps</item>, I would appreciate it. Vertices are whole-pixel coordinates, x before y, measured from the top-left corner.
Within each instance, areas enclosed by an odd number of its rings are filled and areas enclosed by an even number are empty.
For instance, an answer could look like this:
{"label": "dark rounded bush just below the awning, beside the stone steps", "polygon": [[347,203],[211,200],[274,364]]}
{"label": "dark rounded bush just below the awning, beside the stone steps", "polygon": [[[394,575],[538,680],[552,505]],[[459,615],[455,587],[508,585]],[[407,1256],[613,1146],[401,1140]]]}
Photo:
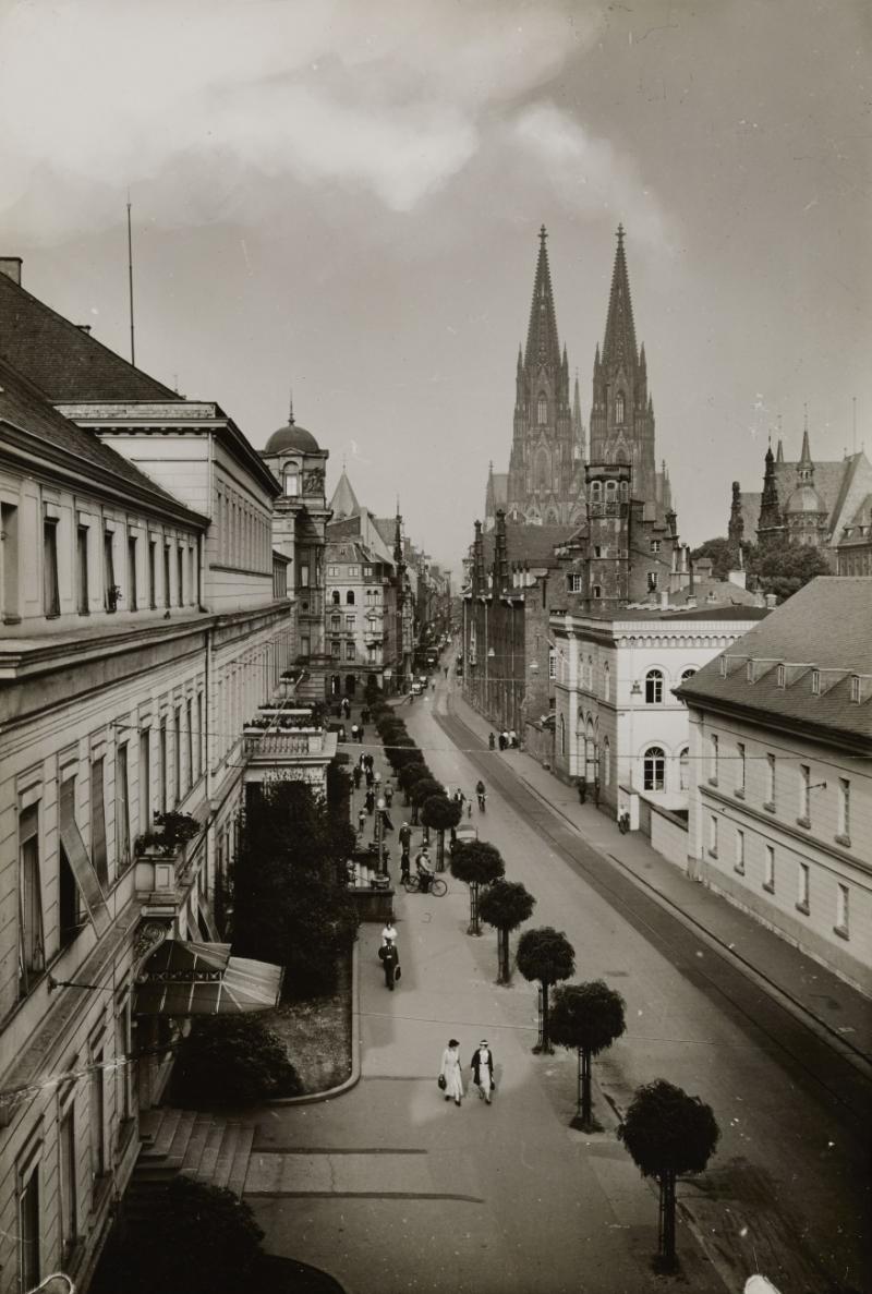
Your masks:
{"label": "dark rounded bush just below the awning, beside the stone steps", "polygon": [[199,1016],[179,1046],[172,1088],[180,1105],[211,1109],[296,1096],[300,1080],[260,1016]]}

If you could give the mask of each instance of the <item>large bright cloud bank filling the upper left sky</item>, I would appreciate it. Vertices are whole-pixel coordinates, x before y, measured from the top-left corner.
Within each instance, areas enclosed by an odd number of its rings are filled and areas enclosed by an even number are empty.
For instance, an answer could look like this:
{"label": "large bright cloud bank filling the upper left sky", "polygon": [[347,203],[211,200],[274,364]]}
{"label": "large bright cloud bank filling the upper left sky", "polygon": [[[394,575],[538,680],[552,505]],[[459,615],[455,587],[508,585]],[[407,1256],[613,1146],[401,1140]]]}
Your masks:
{"label": "large bright cloud bank filling the upper left sky", "polygon": [[[31,0],[0,18],[0,215],[31,241],[118,220],[129,185],[184,224],[251,182],[409,211],[586,48],[565,0]],[[177,192],[190,167],[201,194]],[[175,201],[173,201],[175,195]]]}

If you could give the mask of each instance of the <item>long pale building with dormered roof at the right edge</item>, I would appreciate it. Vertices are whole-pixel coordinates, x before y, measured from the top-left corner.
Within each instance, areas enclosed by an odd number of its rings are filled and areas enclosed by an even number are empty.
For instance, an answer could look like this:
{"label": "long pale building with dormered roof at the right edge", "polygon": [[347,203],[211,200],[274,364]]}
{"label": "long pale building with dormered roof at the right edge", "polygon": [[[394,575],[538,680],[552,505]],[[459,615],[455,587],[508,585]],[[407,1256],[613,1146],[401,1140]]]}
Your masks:
{"label": "long pale building with dormered roof at the right edge", "polygon": [[699,877],[872,991],[872,578],[814,580],[678,695]]}

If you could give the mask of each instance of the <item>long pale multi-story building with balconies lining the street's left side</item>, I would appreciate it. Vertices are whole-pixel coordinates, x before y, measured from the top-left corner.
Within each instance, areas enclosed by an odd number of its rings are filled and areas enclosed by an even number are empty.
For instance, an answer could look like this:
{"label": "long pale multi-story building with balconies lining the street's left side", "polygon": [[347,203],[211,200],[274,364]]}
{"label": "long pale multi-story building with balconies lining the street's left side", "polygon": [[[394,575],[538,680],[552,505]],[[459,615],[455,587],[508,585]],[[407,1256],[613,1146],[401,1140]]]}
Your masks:
{"label": "long pale multi-story building with balconies lining the street's left side", "polygon": [[278,483],[217,405],[19,269],[0,263],[3,1294],[61,1266],[87,1284],[176,1034],[137,982],[158,946],[219,933],[243,726],[294,659]]}

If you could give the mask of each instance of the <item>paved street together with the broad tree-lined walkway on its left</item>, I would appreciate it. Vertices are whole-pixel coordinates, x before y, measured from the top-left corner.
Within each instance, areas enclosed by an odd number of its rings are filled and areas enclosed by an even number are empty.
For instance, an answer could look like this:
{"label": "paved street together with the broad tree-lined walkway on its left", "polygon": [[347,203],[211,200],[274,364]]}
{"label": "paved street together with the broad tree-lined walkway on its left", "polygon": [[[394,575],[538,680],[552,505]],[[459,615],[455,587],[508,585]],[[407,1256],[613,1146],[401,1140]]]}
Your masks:
{"label": "paved street together with the broad tree-lined walkway on its left", "polygon": [[[398,902],[404,978],[388,994],[378,932],[361,934],[362,1078],[321,1105],[268,1112],[246,1184],[270,1250],[322,1267],[349,1294],[644,1291],[656,1197],[613,1130],[640,1082],[666,1077],[714,1106],[722,1145],[679,1196],[686,1288],[721,1294],[766,1271],[785,1291],[862,1277],[860,1093],[811,1035],[717,954],[644,901],[620,868],[532,796],[437,694],[404,712],[433,771],[490,788],[481,835],[564,929],[577,977],[627,1002],[629,1029],[595,1066],[604,1132],[573,1132],[574,1057],[533,1057],[536,994],[494,985],[496,941],[466,936],[466,889]],[[611,839],[611,837],[609,837]],[[498,1096],[445,1105],[449,1035],[464,1058],[488,1036]],[[828,1086],[822,1086],[822,1080]],[[693,1233],[696,1232],[696,1234]],[[699,1244],[703,1241],[703,1246]],[[757,1259],[757,1262],[756,1262]]]}

